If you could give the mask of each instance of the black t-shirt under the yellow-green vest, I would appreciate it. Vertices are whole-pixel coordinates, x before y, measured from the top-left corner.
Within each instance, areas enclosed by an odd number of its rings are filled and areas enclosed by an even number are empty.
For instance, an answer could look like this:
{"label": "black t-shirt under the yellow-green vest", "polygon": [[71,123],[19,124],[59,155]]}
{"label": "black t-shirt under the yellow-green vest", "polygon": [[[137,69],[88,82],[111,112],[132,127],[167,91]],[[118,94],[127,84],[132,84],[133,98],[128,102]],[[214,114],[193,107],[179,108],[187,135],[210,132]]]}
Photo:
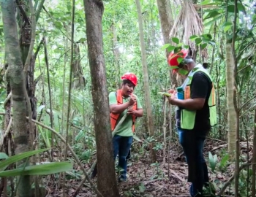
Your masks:
{"label": "black t-shirt under the yellow-green vest", "polygon": [[[193,130],[199,131],[200,133],[208,133],[211,129],[210,124],[210,112],[208,108],[208,99],[211,94],[211,80],[203,72],[196,72],[193,75],[192,82],[190,85],[191,99],[203,98],[206,99],[203,108],[197,110],[195,116],[195,127]],[[181,127],[181,112],[176,112],[177,126]]]}

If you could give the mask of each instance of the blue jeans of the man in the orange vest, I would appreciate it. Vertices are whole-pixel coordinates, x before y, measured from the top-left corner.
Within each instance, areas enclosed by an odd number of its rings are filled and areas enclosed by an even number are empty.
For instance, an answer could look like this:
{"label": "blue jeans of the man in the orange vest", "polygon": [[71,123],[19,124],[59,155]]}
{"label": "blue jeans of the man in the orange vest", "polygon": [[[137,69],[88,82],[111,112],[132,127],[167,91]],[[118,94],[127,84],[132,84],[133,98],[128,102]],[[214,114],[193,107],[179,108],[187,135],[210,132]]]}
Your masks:
{"label": "blue jeans of the man in the orange vest", "polygon": [[118,167],[121,168],[119,179],[127,179],[127,155],[132,146],[132,136],[113,136],[114,160],[118,155]]}

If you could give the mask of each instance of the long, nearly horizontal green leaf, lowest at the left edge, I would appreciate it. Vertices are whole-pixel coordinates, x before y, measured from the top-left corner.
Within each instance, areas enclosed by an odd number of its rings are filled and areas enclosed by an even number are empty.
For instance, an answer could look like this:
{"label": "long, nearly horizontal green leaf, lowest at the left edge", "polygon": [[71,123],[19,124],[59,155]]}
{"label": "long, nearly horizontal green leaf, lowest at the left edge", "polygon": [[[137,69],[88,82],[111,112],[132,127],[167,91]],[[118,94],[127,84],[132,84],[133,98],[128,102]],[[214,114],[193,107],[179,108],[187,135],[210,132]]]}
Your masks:
{"label": "long, nearly horizontal green leaf, lowest at the left edge", "polygon": [[63,171],[72,171],[72,163],[66,162],[53,162],[53,163],[46,163],[40,164],[35,166],[26,166],[19,169],[1,171],[0,177],[13,177],[19,175],[48,175],[48,174],[55,174]]}

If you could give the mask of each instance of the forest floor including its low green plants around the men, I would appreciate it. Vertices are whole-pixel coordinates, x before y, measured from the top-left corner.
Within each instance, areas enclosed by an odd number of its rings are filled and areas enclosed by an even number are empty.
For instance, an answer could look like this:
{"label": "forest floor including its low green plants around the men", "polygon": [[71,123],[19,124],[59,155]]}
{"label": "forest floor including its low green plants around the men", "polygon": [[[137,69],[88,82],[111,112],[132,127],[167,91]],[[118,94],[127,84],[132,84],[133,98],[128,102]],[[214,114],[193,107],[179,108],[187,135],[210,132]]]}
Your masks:
{"label": "forest floor including its low green plants around the men", "polygon": [[[211,153],[209,153],[211,152]],[[228,162],[227,143],[218,139],[206,140],[204,155],[208,164],[209,177],[211,185],[216,190],[216,194],[221,190],[223,185],[229,181],[235,171],[234,163]],[[132,146],[132,155],[128,162],[128,181],[118,185],[121,196],[189,196],[189,182],[187,182],[187,163],[185,161],[181,147],[177,142],[170,147],[170,162],[167,161],[167,152],[165,163],[163,162],[162,150],[157,151],[157,163],[150,163],[150,152],[143,147],[143,143],[135,142]],[[246,162],[252,155],[252,144],[250,142],[241,142],[241,161]],[[95,157],[95,155],[94,155]],[[71,159],[71,158],[70,158]],[[86,163],[87,171],[91,168],[91,163]],[[169,166],[169,167],[168,167]],[[168,170],[169,169],[169,170]],[[248,171],[241,171],[241,194],[246,190]],[[83,179],[82,171],[79,166],[74,167],[74,171],[67,174],[66,190],[69,190],[69,196],[74,196],[78,185]],[[116,173],[118,175],[118,172]],[[55,184],[48,177],[45,179],[46,196],[62,196],[61,188],[58,188],[58,179],[55,177]],[[243,180],[244,179],[244,180]],[[97,184],[97,177],[92,179]],[[233,196],[233,182],[227,187],[222,196]],[[246,194],[244,194],[246,195]],[[90,188],[88,182],[83,184],[77,196],[96,196],[94,190]],[[243,195],[242,195],[243,196]]]}

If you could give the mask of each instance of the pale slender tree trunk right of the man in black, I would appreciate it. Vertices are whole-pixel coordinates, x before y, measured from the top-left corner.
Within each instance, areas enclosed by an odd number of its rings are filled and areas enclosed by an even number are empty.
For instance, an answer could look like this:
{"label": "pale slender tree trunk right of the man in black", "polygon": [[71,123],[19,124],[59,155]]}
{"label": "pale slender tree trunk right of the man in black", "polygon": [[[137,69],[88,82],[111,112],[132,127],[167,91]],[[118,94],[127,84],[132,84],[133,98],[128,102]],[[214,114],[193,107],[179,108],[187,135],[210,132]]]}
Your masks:
{"label": "pale slender tree trunk right of the man in black", "polygon": [[236,150],[236,110],[233,102],[234,88],[234,59],[231,43],[226,43],[226,81],[227,81],[227,128],[228,128],[228,152],[234,156]]}

